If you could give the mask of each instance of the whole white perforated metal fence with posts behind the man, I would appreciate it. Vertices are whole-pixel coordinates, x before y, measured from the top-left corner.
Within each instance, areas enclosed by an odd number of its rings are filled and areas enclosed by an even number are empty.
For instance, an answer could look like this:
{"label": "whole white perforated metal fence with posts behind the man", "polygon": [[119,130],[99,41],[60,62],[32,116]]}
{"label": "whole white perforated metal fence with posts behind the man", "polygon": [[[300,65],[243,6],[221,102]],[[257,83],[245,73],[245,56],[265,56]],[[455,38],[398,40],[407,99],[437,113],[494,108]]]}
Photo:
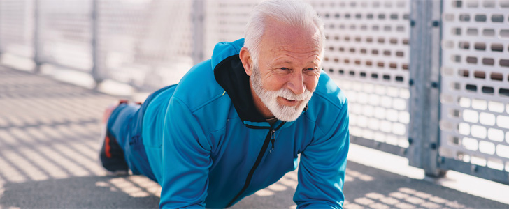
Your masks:
{"label": "whole white perforated metal fence with posts behind the man", "polygon": [[[509,183],[509,0],[308,2],[353,143]],[[154,90],[243,37],[256,3],[0,0],[0,52]]]}

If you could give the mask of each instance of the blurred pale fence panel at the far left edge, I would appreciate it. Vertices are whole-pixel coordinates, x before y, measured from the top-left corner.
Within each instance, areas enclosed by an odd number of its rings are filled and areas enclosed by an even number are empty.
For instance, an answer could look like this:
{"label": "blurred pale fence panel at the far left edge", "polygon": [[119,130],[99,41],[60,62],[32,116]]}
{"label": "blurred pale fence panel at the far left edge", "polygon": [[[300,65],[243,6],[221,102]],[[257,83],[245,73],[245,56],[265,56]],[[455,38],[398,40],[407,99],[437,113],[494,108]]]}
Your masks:
{"label": "blurred pale fence panel at the far left edge", "polygon": [[34,1],[0,1],[0,52],[34,56]]}

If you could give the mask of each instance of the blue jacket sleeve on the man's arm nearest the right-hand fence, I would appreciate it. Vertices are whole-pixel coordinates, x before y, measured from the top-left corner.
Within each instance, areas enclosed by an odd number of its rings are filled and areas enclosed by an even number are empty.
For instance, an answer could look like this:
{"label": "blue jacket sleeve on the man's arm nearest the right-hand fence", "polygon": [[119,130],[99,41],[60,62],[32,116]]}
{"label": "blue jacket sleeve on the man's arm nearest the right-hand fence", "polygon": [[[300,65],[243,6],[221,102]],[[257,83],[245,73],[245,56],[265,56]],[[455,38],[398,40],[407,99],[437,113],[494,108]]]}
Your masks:
{"label": "blue jacket sleeve on the man's arm nearest the right-hand fence", "polygon": [[343,207],[350,143],[347,106],[345,101],[337,118],[330,120],[332,126],[328,132],[316,127],[313,141],[301,153],[299,185],[294,194],[298,208]]}

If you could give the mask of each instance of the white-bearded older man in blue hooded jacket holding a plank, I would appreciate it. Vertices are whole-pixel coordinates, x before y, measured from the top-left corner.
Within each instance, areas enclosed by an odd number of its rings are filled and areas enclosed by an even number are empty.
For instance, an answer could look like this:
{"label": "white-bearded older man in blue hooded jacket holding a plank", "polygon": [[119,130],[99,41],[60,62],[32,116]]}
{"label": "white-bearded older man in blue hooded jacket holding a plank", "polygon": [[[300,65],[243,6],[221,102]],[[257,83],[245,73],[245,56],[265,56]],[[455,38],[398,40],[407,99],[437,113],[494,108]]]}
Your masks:
{"label": "white-bearded older man in blue hooded jacket holding a plank", "polygon": [[300,154],[296,204],[341,208],[347,101],[320,70],[323,53],[308,4],[259,4],[245,40],[218,43],[177,85],[106,115],[103,166],[157,181],[161,208],[224,208],[296,169]]}

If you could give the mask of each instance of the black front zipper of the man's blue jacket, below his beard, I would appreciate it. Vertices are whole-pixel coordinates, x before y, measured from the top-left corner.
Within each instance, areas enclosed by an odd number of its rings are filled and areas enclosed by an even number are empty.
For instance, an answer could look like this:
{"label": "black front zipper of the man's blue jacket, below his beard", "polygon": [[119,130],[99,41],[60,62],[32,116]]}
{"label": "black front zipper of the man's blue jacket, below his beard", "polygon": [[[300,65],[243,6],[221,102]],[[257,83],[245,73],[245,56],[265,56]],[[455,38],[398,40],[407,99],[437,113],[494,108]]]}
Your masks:
{"label": "black front zipper of the man's blue jacket, below his beard", "polygon": [[[260,153],[258,153],[258,157],[257,157],[257,160],[254,162],[254,165],[252,166],[251,170],[249,171],[248,173],[248,178],[245,179],[245,183],[244,183],[244,187],[241,189],[241,192],[238,192],[238,194],[234,197],[234,199],[231,199],[230,203],[228,203],[227,205],[227,208],[229,208],[236,199],[238,199],[239,196],[241,196],[242,193],[245,192],[245,189],[248,189],[250,183],[251,183],[251,179],[252,179],[252,176],[254,174],[254,171],[258,168],[260,162],[261,162],[261,159],[264,158],[264,154],[268,148],[268,143],[271,142],[272,143],[272,148],[271,150],[269,151],[269,153],[272,153],[273,150],[274,150],[274,142],[275,142],[275,131],[276,130],[279,130],[280,127],[282,127],[282,125],[284,125],[285,122],[282,122],[280,125],[278,125],[278,127],[276,127],[275,129],[273,129],[272,127],[271,128],[268,128],[268,133],[267,133],[267,136],[265,137],[265,141],[264,141],[264,144],[261,146],[261,150],[260,150]],[[266,127],[257,127],[257,126],[251,126],[251,125],[246,125],[247,127],[249,128],[254,128],[254,129],[266,129]]]}

